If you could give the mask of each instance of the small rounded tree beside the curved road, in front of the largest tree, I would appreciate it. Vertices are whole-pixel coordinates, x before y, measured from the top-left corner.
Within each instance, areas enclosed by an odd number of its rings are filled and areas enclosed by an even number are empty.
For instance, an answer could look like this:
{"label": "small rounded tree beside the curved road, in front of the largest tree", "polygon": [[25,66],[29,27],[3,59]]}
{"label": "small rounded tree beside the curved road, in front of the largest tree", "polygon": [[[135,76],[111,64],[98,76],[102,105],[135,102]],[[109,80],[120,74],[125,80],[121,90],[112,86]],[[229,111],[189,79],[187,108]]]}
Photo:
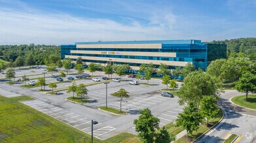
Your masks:
{"label": "small rounded tree beside the curved road, in front of the largest tree", "polygon": [[200,102],[200,114],[207,118],[213,118],[219,112],[219,107],[217,107],[217,97],[213,96],[204,96]]}

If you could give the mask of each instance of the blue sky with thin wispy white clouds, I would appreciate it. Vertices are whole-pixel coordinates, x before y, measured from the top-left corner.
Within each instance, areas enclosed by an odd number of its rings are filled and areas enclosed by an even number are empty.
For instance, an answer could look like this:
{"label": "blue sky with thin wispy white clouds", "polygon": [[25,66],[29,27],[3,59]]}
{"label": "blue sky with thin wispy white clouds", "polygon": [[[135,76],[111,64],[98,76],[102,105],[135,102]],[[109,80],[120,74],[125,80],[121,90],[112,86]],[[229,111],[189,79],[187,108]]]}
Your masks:
{"label": "blue sky with thin wispy white clouds", "polygon": [[256,0],[0,0],[0,45],[256,37]]}

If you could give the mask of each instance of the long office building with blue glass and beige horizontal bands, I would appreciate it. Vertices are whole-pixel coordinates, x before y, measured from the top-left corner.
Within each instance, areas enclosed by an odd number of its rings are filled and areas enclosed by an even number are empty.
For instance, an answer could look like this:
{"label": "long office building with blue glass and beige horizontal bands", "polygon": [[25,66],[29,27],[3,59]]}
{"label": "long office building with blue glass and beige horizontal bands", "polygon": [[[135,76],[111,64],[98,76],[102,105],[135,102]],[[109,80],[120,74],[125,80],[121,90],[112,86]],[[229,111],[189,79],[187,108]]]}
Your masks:
{"label": "long office building with blue glass and beige horizontal bands", "polygon": [[206,70],[212,60],[227,58],[227,45],[206,44],[200,40],[152,40],[123,42],[76,42],[61,45],[61,59],[76,61],[82,57],[86,64],[129,64],[133,71],[140,64],[167,64],[170,69],[192,62],[195,68]]}

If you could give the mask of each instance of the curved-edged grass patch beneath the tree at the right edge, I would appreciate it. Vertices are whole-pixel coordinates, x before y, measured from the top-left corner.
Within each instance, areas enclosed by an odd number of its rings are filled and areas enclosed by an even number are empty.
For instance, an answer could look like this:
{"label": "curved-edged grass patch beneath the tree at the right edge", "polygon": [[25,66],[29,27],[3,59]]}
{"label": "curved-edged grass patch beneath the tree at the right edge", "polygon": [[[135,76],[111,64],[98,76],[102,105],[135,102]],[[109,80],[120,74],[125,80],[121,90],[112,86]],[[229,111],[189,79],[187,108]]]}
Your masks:
{"label": "curved-edged grass patch beneath the tree at the right edge", "polygon": [[245,99],[246,96],[235,96],[231,101],[242,107],[256,109],[256,95],[248,95],[248,101],[245,101]]}

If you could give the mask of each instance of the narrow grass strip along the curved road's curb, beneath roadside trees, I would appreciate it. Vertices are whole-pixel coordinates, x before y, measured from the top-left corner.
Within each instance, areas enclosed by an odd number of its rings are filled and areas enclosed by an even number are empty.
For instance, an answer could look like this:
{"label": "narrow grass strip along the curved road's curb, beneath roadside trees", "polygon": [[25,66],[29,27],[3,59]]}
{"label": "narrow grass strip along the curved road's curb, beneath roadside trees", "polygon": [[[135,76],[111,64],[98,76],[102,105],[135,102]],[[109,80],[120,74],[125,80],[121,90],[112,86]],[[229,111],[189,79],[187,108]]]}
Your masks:
{"label": "narrow grass strip along the curved road's curb, beneath roadside trees", "polygon": [[[209,123],[211,123],[212,125],[215,125],[217,122],[219,122],[219,120],[221,120],[222,116],[223,116],[223,112],[220,109],[219,113],[216,115],[215,118],[209,119]],[[199,125],[199,129],[197,131],[193,131],[192,135],[188,135],[188,137],[190,138],[191,141],[194,141],[200,135],[202,135],[204,132],[206,132],[208,129],[210,129],[210,127],[207,127],[204,123],[202,123],[201,125]],[[184,137],[176,140],[175,143],[189,142],[185,138],[186,138],[186,135]]]}

